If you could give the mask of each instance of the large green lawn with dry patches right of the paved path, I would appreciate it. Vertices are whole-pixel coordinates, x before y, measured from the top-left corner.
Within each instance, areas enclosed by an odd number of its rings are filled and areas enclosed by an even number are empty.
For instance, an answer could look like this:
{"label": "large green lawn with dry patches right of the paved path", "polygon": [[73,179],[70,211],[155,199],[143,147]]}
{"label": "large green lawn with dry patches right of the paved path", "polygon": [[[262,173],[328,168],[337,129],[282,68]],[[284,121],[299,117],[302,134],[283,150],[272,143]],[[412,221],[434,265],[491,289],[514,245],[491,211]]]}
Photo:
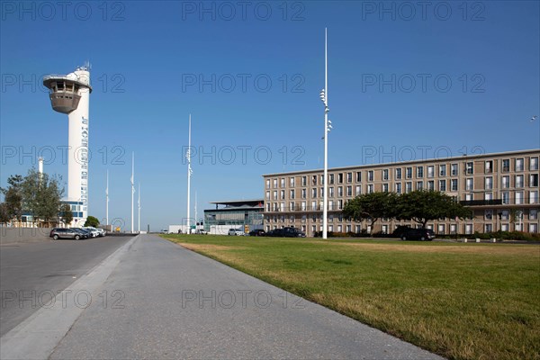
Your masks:
{"label": "large green lawn with dry patches right of the paved path", "polygon": [[540,359],[540,247],[166,235],[451,359]]}

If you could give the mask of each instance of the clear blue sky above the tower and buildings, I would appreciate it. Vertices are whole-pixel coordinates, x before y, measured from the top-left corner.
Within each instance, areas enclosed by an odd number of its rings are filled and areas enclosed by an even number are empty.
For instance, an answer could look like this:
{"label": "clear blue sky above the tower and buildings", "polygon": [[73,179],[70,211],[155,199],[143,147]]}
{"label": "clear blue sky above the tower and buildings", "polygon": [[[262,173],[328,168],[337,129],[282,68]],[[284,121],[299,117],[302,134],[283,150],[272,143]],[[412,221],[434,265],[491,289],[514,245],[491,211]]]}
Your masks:
{"label": "clear blue sky above the tower and buildings", "polygon": [[185,217],[189,113],[199,217],[262,198],[262,174],[322,164],[325,26],[329,166],[540,147],[537,1],[242,4],[2,2],[0,186],[38,155],[67,180],[67,116],[40,79],[89,60],[90,214],[108,169],[130,228],[134,151],[141,228]]}

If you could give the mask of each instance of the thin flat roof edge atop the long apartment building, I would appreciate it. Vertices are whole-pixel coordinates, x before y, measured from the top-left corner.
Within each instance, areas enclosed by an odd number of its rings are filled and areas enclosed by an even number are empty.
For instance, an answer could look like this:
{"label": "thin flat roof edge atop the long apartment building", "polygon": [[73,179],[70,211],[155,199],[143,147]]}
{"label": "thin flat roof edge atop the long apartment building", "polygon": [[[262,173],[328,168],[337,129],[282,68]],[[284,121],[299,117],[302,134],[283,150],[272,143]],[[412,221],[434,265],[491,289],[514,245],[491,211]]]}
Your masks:
{"label": "thin flat roof edge atop the long apartment building", "polygon": [[[356,166],[339,166],[339,167],[329,167],[329,171],[337,171],[337,170],[352,170],[352,169],[358,169],[358,168],[373,168],[373,167],[381,167],[381,166],[396,166],[396,165],[410,165],[410,164],[419,164],[419,163],[426,163],[426,162],[433,162],[433,161],[455,161],[455,160],[463,160],[464,158],[472,159],[472,158],[483,158],[483,157],[501,157],[501,156],[512,156],[512,155],[518,155],[518,154],[527,154],[527,153],[535,153],[540,151],[540,148],[533,148],[528,150],[518,150],[518,151],[506,151],[506,152],[498,152],[498,153],[491,153],[491,154],[464,154],[461,157],[439,157],[439,158],[420,158],[417,160],[407,160],[407,161],[394,161],[394,162],[388,162],[388,163],[380,163],[380,164],[365,164],[365,165],[356,165]],[[263,174],[263,177],[266,176],[276,176],[276,175],[293,175],[293,174],[311,174],[311,173],[322,173],[323,169],[311,169],[311,170],[298,170],[298,171],[289,171],[289,172],[283,172],[283,173],[271,173],[271,174]]]}

